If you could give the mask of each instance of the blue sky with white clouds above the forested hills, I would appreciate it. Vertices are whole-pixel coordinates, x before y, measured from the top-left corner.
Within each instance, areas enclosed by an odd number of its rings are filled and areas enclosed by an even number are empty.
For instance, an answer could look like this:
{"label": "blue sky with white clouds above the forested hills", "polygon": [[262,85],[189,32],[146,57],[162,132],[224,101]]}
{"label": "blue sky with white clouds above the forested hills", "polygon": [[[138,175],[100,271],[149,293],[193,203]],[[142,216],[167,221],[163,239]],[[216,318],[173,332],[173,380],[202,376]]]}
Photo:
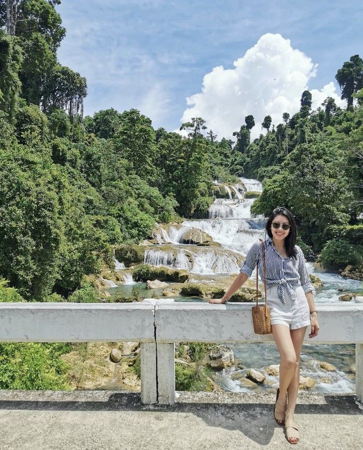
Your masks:
{"label": "blue sky with white clouds above the forested hills", "polygon": [[178,130],[203,117],[231,138],[252,114],[298,111],[302,91],[313,109],[328,96],[339,106],[335,74],[363,57],[363,2],[334,0],[62,0],[67,34],[62,65],[86,77],[85,115],[137,108],[156,129]]}

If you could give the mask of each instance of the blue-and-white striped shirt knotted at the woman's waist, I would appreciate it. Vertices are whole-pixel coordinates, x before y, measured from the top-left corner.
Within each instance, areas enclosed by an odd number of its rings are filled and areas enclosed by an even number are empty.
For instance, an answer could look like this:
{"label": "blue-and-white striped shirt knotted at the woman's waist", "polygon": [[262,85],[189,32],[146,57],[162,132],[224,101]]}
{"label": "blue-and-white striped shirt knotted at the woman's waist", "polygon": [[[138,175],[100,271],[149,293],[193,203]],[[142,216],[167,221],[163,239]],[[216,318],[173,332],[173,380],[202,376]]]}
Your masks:
{"label": "blue-and-white striped shirt knotted at the woman's waist", "polygon": [[[266,288],[277,285],[277,294],[281,303],[285,304],[284,286],[291,299],[295,300],[292,285],[301,284],[304,292],[313,290],[308,271],[305,266],[305,256],[301,248],[295,245],[297,260],[292,257],[282,258],[272,243],[272,238],[265,240],[265,262],[266,262]],[[239,272],[243,272],[251,277],[253,270],[259,261],[259,273],[263,280],[262,265],[262,242],[255,242],[246,255],[244,265]]]}

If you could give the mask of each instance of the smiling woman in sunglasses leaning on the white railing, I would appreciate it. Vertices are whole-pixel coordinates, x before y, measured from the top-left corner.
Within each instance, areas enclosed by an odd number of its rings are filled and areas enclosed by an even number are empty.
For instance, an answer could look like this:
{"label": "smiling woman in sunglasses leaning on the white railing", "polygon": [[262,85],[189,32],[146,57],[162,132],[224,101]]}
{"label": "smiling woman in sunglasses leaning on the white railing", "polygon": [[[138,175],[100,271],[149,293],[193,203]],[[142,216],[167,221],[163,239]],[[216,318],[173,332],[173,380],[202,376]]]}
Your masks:
{"label": "smiling woman in sunglasses leaning on the white railing", "polygon": [[[299,359],[308,325],[309,338],[317,336],[319,324],[304,253],[295,245],[296,223],[286,208],[276,208],[266,223],[268,238],[264,241],[267,301],[271,313],[272,336],[280,353],[280,381],[276,394],[274,418],[285,425],[287,440],[299,440],[294,411],[299,385]],[[262,242],[252,245],[240,273],[224,296],[209,303],[225,303],[243,285],[259,261],[262,270]]]}

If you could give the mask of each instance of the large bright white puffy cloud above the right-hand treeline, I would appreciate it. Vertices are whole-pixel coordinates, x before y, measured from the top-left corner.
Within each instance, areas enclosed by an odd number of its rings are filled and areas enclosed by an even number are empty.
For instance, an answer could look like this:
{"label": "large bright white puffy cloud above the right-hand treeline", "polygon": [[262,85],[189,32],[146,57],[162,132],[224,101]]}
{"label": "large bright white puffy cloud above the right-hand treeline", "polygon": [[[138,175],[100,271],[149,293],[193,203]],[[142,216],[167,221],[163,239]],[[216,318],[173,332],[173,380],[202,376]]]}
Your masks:
{"label": "large bright white puffy cloud above the right-hand treeline", "polygon": [[[292,48],[289,39],[271,33],[261,36],[233,66],[215,67],[204,76],[202,92],[187,97],[188,108],[181,122],[203,117],[218,139],[231,138],[245,123],[245,116],[252,114],[256,123],[251,131],[254,139],[260,135],[266,115],[277,125],[282,122],[283,112],[292,115],[299,110],[301,94],[309,89],[308,82],[316,76],[318,67],[304,52]],[[338,105],[345,105],[333,82],[311,93],[313,109],[328,96]]]}

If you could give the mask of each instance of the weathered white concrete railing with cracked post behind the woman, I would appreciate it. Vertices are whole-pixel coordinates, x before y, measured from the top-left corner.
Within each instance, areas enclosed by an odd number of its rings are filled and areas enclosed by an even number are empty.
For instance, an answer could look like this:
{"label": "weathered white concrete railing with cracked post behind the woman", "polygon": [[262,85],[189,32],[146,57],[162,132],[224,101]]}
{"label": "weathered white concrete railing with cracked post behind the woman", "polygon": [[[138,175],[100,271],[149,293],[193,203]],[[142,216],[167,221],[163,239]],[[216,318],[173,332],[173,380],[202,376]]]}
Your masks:
{"label": "weathered white concrete railing with cracked post behind the woman", "polygon": [[[0,341],[141,343],[141,400],[175,402],[174,343],[273,342],[253,332],[251,303],[0,303]],[[363,401],[363,304],[317,305],[320,332],[305,342],[355,344],[356,396]]]}

